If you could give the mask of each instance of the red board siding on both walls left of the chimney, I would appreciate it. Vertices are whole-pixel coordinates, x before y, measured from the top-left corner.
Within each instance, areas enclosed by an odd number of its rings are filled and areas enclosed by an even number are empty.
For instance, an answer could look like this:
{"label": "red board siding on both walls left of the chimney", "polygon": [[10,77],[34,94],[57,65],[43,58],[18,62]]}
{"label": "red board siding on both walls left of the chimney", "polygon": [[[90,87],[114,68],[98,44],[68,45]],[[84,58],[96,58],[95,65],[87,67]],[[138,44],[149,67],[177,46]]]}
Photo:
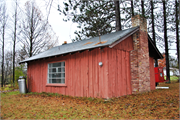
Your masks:
{"label": "red board siding on both walls left of the chimney", "polygon": [[[113,48],[96,48],[29,62],[28,88],[31,92],[79,97],[110,98],[131,94],[129,51],[133,49],[132,38],[125,41]],[[65,61],[66,86],[47,86],[48,63],[60,61]],[[102,67],[99,62],[103,63]]]}

